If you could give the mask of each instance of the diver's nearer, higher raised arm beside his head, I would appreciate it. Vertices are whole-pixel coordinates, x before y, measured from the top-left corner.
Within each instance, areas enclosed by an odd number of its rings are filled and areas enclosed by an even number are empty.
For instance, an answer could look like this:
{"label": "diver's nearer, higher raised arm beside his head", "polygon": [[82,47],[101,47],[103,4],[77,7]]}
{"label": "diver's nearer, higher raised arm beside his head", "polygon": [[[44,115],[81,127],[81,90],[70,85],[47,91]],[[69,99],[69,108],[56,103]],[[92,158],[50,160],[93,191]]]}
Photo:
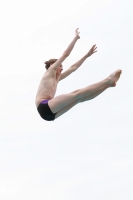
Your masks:
{"label": "diver's nearer, higher raised arm beside his head", "polygon": [[80,38],[79,32],[78,32],[78,29],[76,29],[74,39],[69,44],[67,49],[64,51],[63,55],[54,64],[51,65],[50,67],[51,69],[56,70],[61,65],[61,63],[70,55],[73,47],[75,46],[75,43],[77,42],[79,38]]}

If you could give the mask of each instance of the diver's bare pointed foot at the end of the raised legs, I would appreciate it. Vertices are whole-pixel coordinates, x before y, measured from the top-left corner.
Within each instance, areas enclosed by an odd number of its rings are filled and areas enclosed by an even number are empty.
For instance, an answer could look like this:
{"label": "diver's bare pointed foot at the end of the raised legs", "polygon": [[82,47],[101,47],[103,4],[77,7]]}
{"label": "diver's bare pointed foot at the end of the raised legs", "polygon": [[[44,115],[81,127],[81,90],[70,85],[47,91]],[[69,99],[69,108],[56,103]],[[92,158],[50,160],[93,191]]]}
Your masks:
{"label": "diver's bare pointed foot at the end of the raised legs", "polygon": [[109,85],[111,87],[115,87],[116,86],[116,82],[119,80],[121,73],[122,73],[122,70],[118,69],[108,77]]}

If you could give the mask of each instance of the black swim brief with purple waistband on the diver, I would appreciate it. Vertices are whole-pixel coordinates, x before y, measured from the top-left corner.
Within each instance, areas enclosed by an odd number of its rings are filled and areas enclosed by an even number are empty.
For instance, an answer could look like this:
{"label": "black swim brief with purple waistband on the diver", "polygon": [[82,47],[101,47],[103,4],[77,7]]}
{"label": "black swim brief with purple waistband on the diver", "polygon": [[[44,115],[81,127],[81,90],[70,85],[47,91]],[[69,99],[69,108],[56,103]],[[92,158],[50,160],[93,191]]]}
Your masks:
{"label": "black swim brief with purple waistband on the diver", "polygon": [[47,120],[47,121],[53,121],[55,119],[55,115],[56,113],[52,113],[52,111],[50,110],[49,108],[49,105],[48,105],[48,101],[47,99],[43,100],[39,106],[37,107],[37,110],[40,114],[40,116]]}

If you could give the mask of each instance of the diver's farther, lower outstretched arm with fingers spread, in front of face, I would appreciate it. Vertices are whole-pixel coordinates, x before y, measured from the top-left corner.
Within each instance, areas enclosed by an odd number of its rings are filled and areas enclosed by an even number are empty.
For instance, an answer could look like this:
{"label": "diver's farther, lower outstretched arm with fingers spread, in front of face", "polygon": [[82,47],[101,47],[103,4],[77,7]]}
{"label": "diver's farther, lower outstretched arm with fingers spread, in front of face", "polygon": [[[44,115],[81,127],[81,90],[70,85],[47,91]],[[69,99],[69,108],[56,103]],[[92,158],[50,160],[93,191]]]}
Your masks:
{"label": "diver's farther, lower outstretched arm with fingers spread, in front of face", "polygon": [[75,64],[73,64],[69,69],[67,69],[65,72],[63,72],[61,74],[61,77],[60,77],[60,80],[66,78],[67,76],[69,76],[72,72],[74,72],[75,70],[77,70],[81,65],[82,63],[89,57],[91,56],[93,53],[96,53],[97,47],[96,45],[93,45],[91,47],[91,49],[89,50],[89,52],[83,57],[81,58],[78,62],[76,62]]}

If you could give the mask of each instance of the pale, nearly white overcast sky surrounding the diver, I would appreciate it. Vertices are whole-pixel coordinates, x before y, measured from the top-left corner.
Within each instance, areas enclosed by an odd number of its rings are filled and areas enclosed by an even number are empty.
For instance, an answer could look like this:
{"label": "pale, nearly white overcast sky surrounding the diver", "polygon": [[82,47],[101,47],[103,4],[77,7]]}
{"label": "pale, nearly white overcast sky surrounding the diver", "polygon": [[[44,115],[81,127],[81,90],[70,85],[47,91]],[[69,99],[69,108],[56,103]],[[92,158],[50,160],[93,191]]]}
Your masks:
{"label": "pale, nearly white overcast sky surrounding the diver", "polygon": [[[0,9],[0,199],[132,200],[132,1],[1,0]],[[77,27],[64,70],[93,44],[98,52],[56,95],[123,73],[117,87],[46,122],[35,107],[43,62],[62,54]]]}

